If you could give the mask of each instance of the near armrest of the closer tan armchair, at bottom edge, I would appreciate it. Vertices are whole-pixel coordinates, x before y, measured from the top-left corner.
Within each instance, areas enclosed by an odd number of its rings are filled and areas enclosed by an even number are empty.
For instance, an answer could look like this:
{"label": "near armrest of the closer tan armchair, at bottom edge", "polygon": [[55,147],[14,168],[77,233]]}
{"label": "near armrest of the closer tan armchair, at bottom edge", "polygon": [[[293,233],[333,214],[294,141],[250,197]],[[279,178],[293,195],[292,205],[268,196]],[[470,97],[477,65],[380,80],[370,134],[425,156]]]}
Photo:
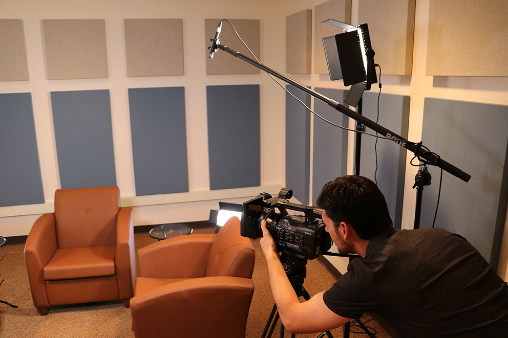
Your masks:
{"label": "near armrest of the closer tan armchair, at bottom edge", "polygon": [[224,276],[155,288],[131,299],[134,334],[194,338],[213,332],[214,337],[244,337],[253,288],[251,279]]}

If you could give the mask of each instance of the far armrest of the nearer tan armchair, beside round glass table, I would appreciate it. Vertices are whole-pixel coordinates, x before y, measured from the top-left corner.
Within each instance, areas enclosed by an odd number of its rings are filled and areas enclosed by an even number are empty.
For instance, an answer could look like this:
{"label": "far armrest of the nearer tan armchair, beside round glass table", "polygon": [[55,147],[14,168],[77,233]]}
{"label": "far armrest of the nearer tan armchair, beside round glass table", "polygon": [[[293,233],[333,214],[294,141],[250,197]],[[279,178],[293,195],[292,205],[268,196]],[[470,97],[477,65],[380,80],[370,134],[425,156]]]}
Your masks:
{"label": "far armrest of the nearer tan armchair, beside round glass table", "polygon": [[168,238],[138,250],[139,276],[152,278],[204,277],[214,234]]}

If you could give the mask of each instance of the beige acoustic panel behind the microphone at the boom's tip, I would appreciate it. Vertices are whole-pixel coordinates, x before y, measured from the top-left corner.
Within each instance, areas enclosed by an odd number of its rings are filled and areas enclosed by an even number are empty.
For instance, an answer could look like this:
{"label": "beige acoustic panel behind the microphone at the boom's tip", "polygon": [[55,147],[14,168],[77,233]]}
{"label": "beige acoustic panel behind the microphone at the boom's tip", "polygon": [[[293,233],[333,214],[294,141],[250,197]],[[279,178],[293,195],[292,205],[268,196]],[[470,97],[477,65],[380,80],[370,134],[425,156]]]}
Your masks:
{"label": "beige acoustic panel behind the microphone at the boom's tip", "polygon": [[[231,54],[219,50],[214,54],[214,58],[210,59],[211,47],[210,39],[215,37],[217,26],[221,19],[205,19],[205,54],[206,54],[206,74],[259,74],[260,70]],[[259,59],[259,20],[257,19],[229,19],[235,27],[240,37],[245,41],[252,53]],[[242,41],[235,34],[231,25],[226,21],[222,21],[222,30],[219,36],[221,44],[235,50],[249,58],[253,58]]]}

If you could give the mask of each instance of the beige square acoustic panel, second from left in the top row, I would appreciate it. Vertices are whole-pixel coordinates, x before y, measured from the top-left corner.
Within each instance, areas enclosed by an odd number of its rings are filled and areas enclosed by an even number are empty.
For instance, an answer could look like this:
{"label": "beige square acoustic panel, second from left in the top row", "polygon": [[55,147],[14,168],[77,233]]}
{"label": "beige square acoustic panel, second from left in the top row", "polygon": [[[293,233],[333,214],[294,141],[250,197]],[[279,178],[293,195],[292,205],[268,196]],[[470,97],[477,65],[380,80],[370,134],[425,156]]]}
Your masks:
{"label": "beige square acoustic panel, second from left in the top row", "polygon": [[108,77],[103,19],[43,20],[48,79]]}

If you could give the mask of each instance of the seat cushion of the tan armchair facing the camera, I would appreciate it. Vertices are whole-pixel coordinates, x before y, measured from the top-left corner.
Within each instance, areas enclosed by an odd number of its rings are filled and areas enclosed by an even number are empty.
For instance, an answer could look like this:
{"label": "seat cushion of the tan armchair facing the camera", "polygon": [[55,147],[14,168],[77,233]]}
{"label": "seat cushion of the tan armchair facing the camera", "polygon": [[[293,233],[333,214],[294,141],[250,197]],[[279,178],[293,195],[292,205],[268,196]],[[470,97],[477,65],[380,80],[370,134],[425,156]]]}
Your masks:
{"label": "seat cushion of the tan armchair facing the camera", "polygon": [[57,249],[44,266],[45,280],[68,280],[115,275],[116,245]]}

